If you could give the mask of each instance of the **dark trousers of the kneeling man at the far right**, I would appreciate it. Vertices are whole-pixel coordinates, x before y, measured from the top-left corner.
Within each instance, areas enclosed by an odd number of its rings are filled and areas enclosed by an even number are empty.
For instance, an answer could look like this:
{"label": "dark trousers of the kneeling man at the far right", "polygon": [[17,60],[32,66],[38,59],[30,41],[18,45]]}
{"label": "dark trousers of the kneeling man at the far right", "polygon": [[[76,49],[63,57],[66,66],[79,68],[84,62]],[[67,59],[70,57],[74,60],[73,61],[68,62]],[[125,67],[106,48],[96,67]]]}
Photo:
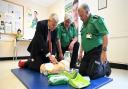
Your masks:
{"label": "dark trousers of the kneeling man at the far right", "polygon": [[96,79],[106,75],[105,67],[101,63],[102,45],[95,47],[89,52],[84,53],[84,57],[79,67],[79,73],[83,76],[89,76],[91,79]]}

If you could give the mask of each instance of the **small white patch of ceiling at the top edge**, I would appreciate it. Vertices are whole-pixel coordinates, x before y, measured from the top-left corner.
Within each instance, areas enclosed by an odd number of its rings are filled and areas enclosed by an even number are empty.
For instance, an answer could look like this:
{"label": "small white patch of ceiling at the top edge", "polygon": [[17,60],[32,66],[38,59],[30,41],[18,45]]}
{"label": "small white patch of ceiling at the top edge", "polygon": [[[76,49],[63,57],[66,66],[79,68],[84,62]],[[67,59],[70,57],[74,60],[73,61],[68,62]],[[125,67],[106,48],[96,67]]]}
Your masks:
{"label": "small white patch of ceiling at the top edge", "polygon": [[32,2],[44,7],[49,7],[50,5],[54,4],[57,0],[25,0],[25,1]]}

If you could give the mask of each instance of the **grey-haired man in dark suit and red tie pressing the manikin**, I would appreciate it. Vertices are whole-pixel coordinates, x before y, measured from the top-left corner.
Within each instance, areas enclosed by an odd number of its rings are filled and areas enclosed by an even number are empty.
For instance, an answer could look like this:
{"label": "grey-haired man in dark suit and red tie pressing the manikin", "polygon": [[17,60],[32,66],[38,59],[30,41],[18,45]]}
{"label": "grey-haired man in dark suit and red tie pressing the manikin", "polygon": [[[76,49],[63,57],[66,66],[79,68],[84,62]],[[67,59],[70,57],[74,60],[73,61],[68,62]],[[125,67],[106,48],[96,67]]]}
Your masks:
{"label": "grey-haired man in dark suit and red tie pressing the manikin", "polygon": [[48,20],[37,23],[35,35],[27,49],[31,59],[25,63],[24,67],[40,71],[40,66],[43,63],[57,63],[56,58],[52,56],[56,53],[57,22],[58,17],[53,13]]}

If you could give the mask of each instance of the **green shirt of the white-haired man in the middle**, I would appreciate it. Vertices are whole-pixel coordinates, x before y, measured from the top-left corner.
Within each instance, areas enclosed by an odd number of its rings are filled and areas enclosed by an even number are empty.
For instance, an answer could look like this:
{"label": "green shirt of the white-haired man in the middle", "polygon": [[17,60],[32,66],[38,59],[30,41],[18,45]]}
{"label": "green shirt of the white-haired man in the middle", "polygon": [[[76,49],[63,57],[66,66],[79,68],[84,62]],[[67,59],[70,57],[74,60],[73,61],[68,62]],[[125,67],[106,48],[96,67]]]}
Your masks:
{"label": "green shirt of the white-haired man in the middle", "polygon": [[62,47],[67,47],[76,36],[77,32],[74,24],[71,24],[68,29],[65,28],[64,23],[57,26],[57,38],[60,39]]}

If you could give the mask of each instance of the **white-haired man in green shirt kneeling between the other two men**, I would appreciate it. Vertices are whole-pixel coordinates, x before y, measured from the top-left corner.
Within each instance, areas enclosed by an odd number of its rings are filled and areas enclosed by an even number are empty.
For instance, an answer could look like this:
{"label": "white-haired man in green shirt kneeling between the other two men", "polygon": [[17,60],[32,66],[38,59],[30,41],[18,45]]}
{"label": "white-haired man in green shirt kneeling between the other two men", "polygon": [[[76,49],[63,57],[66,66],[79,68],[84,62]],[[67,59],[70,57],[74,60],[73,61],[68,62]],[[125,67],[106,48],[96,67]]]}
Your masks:
{"label": "white-haired man in green shirt kneeling between the other two men", "polygon": [[77,31],[75,25],[71,23],[71,16],[66,14],[64,22],[58,25],[58,48],[59,58],[63,59],[65,51],[72,52],[70,68],[76,67],[79,43],[77,42]]}

